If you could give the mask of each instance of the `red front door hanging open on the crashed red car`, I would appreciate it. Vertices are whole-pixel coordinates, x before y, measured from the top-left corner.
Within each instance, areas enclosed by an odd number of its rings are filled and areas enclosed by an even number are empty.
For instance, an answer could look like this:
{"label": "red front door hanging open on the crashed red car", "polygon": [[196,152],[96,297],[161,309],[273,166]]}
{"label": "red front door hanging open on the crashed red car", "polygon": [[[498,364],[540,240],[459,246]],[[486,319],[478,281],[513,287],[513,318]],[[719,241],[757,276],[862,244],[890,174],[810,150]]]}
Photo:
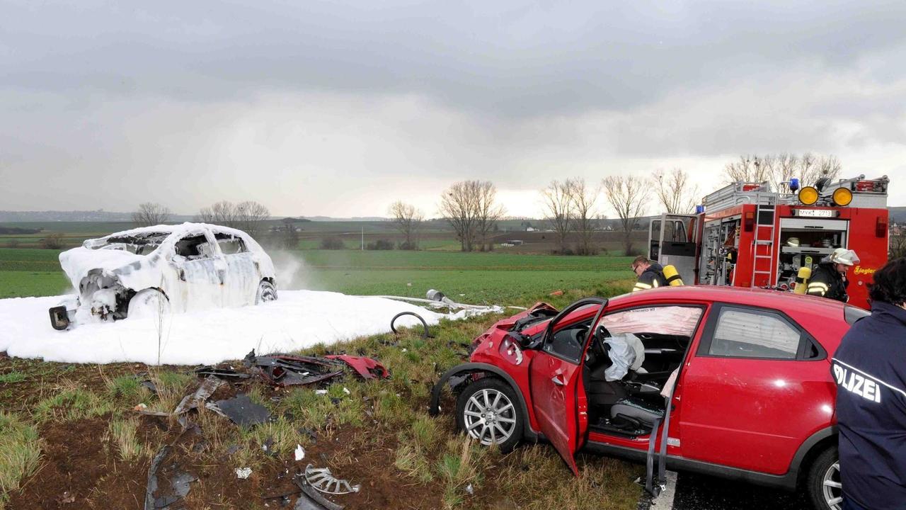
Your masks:
{"label": "red front door hanging open on the crashed red car", "polygon": [[[529,367],[538,425],[576,476],[579,468],[575,465],[575,453],[583,446],[588,429],[588,403],[582,381],[583,357],[592,325],[601,319],[606,306],[607,299],[586,298],[557,314],[548,323],[544,345]],[[584,307],[595,311],[573,314]],[[591,313],[593,319],[589,321]],[[573,316],[569,317],[571,314]],[[588,327],[583,331],[585,323]]]}

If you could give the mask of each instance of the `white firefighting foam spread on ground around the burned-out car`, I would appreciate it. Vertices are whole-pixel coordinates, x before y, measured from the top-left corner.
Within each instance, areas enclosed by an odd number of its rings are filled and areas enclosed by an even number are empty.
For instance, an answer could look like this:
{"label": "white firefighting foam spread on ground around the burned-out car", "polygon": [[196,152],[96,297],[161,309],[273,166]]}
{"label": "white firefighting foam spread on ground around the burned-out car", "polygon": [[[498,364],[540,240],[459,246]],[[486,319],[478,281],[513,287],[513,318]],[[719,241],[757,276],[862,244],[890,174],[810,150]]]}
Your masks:
{"label": "white firefighting foam spread on ground around the burned-out car", "polygon": [[[72,363],[132,361],[195,365],[240,359],[255,351],[292,351],[390,331],[390,319],[414,311],[429,324],[481,313],[437,313],[409,303],[336,292],[281,290],[276,301],[240,308],[204,309],[51,328],[48,309],[64,296],[0,299],[0,351],[20,358]],[[415,326],[405,316],[398,326]]]}

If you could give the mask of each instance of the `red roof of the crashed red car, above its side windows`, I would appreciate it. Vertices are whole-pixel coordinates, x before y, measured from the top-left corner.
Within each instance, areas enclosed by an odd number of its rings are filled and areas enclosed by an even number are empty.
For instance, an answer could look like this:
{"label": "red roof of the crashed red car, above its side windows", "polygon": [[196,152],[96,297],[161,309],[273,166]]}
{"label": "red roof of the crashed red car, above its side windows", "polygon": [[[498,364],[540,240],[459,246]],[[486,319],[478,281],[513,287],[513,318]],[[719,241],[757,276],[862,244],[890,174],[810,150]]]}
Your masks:
{"label": "red roof of the crashed red car, above its side windows", "polygon": [[684,285],[661,287],[623,294],[611,299],[612,305],[632,306],[670,300],[719,301],[738,305],[778,309],[789,315],[798,313],[824,314],[843,318],[845,305],[834,299],[800,296],[792,292],[767,289],[744,289],[718,285]]}

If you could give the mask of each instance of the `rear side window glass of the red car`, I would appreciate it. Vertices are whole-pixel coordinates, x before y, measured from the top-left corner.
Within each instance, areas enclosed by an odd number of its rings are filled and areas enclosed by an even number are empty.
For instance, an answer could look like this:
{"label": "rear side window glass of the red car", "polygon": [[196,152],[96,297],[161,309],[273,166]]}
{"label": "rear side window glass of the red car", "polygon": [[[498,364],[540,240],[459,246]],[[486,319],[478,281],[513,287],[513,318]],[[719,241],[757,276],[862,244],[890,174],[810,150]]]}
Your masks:
{"label": "rear side window glass of the red car", "polygon": [[728,358],[795,359],[802,333],[782,317],[755,310],[720,310],[708,354]]}

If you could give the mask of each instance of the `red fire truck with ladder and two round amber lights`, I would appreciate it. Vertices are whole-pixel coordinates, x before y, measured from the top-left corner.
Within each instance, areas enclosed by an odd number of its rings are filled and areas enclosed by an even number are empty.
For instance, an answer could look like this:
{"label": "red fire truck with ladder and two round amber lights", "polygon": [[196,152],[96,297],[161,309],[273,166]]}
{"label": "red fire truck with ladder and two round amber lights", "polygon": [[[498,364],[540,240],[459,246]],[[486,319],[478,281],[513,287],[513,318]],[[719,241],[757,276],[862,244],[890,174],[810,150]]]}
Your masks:
{"label": "red fire truck with ladder and two round amber lights", "polygon": [[836,248],[854,250],[849,303],[868,309],[867,285],[887,262],[887,176],[800,187],[791,179],[734,182],[704,197],[695,214],[662,214],[649,227],[649,259],[687,284],[793,289],[800,268]]}

